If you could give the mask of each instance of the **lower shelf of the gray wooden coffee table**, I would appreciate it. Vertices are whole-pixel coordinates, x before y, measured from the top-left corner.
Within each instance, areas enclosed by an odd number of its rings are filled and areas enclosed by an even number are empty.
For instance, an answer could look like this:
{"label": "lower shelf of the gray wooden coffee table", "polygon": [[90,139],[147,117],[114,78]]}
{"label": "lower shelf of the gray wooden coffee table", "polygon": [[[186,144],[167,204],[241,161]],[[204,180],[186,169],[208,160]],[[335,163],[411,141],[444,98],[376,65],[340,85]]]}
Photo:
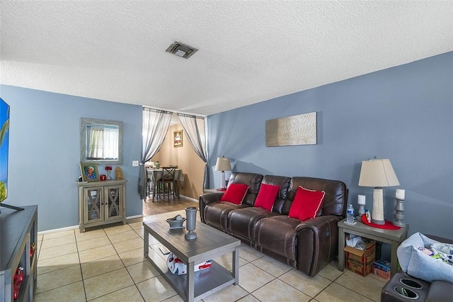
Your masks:
{"label": "lower shelf of the gray wooden coffee table", "polygon": [[[191,301],[187,296],[188,282],[187,274],[175,275],[167,267],[165,259],[159,255],[159,252],[149,249],[148,257],[156,269],[161,272],[162,276],[168,281],[169,284],[181,296],[185,297],[185,301]],[[201,299],[210,295],[214,291],[219,291],[230,284],[234,284],[234,276],[231,275],[228,269],[222,267],[217,262],[212,261],[212,266],[209,269],[203,269],[195,272],[194,280],[194,299]]]}

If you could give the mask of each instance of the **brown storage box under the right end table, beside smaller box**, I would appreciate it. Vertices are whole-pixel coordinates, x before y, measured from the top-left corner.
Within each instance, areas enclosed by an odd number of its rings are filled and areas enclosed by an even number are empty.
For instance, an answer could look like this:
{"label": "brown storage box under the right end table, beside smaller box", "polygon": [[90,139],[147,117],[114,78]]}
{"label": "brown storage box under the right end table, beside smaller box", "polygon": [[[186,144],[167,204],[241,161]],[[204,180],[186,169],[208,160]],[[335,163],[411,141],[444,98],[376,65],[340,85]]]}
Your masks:
{"label": "brown storage box under the right end table, beside smaller box", "polygon": [[355,247],[345,247],[346,267],[352,272],[367,276],[372,273],[373,262],[376,259],[376,241],[362,238],[365,242],[365,250]]}

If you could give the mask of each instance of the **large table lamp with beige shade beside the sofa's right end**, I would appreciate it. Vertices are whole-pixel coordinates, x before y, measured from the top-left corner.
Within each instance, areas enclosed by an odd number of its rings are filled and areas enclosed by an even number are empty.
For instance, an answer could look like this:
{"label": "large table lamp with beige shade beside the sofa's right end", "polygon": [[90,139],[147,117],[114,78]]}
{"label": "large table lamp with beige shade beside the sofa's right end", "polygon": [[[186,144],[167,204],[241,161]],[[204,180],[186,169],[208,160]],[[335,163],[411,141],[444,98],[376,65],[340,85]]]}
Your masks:
{"label": "large table lamp with beige shade beside the sofa's right end", "polygon": [[399,186],[398,178],[390,160],[364,160],[360,169],[359,186],[374,187],[371,222],[384,225],[383,186]]}

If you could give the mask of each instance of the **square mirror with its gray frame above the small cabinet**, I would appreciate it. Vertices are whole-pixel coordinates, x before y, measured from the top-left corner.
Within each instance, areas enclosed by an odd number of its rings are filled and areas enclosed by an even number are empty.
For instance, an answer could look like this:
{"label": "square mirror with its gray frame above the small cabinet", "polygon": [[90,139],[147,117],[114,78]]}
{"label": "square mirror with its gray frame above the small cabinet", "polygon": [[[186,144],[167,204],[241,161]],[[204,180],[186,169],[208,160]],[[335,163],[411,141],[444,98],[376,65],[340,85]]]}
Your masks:
{"label": "square mirror with its gray frame above the small cabinet", "polygon": [[80,162],[122,164],[122,122],[80,119]]}

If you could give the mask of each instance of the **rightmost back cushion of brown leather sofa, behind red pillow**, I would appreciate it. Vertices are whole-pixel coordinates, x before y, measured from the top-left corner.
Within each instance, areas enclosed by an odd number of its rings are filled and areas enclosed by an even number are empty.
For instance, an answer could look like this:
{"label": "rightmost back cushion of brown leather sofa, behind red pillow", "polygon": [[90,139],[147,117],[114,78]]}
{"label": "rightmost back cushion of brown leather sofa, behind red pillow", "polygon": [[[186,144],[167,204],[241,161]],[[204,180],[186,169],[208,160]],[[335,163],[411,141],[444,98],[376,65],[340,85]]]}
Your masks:
{"label": "rightmost back cushion of brown leather sofa, behind red pillow", "polygon": [[[287,200],[282,207],[282,214],[288,215],[289,209],[296,196],[299,186],[315,191],[324,191],[326,194],[318,215],[345,216],[348,203],[348,189],[346,184],[339,180],[319,179],[313,177],[292,177],[289,182]],[[275,206],[274,206],[275,208]]]}

